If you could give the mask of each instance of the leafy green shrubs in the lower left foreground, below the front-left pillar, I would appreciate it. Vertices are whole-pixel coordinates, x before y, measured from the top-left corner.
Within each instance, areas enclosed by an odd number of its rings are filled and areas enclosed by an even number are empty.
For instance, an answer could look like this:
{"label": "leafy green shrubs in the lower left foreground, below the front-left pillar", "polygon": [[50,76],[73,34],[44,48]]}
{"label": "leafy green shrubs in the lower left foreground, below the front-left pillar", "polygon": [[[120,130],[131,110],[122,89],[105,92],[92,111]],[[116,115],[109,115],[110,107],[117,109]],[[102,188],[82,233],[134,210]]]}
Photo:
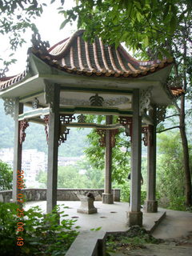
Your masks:
{"label": "leafy green shrubs in the lower left foreground, below the front-left pillar", "polygon": [[[0,202],[1,255],[65,255],[78,235],[79,226],[74,226],[76,221],[66,219],[61,208],[56,206],[45,215],[36,206],[24,211],[24,217],[18,217],[21,216],[18,205]],[[60,224],[58,214],[63,218]],[[17,230],[18,222],[24,223],[24,230]],[[23,238],[20,240],[23,246],[17,246],[19,237]]]}

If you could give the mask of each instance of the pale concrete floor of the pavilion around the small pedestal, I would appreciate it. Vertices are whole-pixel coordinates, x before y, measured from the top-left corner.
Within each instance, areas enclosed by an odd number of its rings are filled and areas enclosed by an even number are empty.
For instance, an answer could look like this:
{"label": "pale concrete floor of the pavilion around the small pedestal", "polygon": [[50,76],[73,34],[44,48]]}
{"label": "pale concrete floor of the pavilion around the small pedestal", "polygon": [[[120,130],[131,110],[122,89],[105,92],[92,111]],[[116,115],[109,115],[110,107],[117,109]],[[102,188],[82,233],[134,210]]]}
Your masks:
{"label": "pale concrete floor of the pavilion around the small pedestal", "polygon": [[[68,206],[65,210],[65,214],[69,216],[66,218],[76,219],[75,226],[81,226],[79,230],[90,230],[98,227],[102,227],[103,231],[117,232],[126,231],[129,226],[126,224],[126,213],[130,211],[129,204],[127,202],[114,202],[114,204],[103,204],[100,201],[95,201],[94,206],[98,208],[97,214],[80,214],[77,212],[80,206],[80,201],[58,201],[58,205],[64,204]],[[46,201],[38,202],[26,202],[25,209],[28,210],[32,206],[39,206],[43,212],[46,213]],[[143,227],[146,230],[153,230],[154,226],[165,214],[165,210],[158,209],[158,213],[143,213]]]}

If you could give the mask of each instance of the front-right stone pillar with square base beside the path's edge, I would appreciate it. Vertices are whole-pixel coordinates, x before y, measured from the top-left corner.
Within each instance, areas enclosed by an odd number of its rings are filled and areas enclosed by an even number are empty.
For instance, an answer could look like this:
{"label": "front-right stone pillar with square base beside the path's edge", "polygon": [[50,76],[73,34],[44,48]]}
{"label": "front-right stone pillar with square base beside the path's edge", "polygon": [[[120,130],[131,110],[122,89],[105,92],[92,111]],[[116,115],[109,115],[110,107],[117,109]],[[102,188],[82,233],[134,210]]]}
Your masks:
{"label": "front-right stone pillar with square base beside the path's edge", "polygon": [[131,146],[131,188],[129,226],[142,226],[141,212],[141,151],[142,151],[142,118],[139,114],[139,90],[135,89],[132,99],[133,134]]}

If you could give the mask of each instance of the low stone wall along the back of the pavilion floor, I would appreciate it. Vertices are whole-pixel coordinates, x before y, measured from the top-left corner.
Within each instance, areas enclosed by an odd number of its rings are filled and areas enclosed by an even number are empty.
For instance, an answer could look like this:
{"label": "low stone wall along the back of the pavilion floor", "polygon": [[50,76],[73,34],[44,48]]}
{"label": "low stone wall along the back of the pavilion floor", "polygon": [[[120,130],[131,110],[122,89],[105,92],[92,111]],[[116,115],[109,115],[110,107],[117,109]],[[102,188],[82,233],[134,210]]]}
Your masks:
{"label": "low stone wall along the back of the pavilion floor", "polygon": [[[114,201],[120,202],[120,189],[112,190]],[[102,201],[104,190],[97,189],[58,189],[58,201],[79,201],[77,194],[92,192],[96,201]],[[46,189],[24,189],[27,201],[46,201]],[[0,191],[0,202],[10,202],[12,190]]]}

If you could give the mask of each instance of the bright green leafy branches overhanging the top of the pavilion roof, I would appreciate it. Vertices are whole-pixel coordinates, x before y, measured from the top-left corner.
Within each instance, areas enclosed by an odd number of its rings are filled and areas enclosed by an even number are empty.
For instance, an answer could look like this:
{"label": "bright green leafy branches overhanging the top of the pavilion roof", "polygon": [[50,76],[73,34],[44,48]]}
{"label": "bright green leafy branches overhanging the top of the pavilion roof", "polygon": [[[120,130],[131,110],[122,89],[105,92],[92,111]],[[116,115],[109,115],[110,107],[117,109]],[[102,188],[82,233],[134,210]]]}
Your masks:
{"label": "bright green leafy branches overhanging the top of the pavilion roof", "polygon": [[[146,50],[154,42],[160,46],[171,38],[178,24],[190,14],[191,7],[189,0],[79,0],[72,10],[59,8],[59,13],[66,18],[62,27],[66,22],[78,20],[78,28],[86,29],[86,38],[99,36],[115,46],[126,42],[132,50]],[[169,52],[160,46],[159,54]]]}

